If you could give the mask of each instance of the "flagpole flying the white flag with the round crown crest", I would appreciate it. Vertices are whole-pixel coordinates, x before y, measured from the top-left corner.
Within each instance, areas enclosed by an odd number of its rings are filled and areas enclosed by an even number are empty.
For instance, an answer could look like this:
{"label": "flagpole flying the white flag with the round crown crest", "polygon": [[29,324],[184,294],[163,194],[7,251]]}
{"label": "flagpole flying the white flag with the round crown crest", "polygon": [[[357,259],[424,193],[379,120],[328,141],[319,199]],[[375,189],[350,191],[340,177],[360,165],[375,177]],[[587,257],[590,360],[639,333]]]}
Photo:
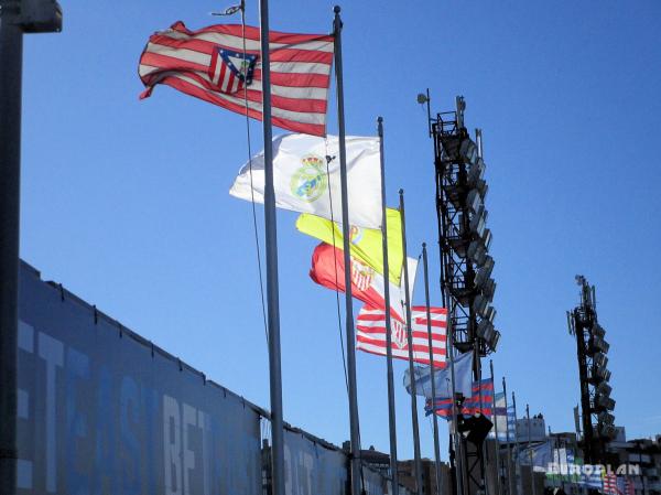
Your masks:
{"label": "flagpole flying the white flag with the round crown crest", "polygon": [[383,245],[383,299],[386,301],[386,362],[388,375],[388,429],[390,432],[390,476],[392,495],[399,495],[397,472],[397,427],[394,416],[394,379],[392,376],[392,333],[390,327],[390,272],[388,267],[388,219],[386,214],[386,159],[383,158],[383,118],[377,119],[381,157],[381,238]]}

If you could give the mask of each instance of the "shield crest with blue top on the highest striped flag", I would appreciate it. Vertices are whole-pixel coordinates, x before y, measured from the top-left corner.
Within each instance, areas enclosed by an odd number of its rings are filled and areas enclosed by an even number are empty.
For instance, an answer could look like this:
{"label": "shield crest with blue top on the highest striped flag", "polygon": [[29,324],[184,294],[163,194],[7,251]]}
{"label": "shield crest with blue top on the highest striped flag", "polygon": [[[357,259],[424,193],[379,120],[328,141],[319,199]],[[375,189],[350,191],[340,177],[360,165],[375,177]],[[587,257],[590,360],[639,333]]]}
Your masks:
{"label": "shield crest with blue top on the highest striped flag", "polygon": [[214,89],[231,95],[252,84],[257,55],[214,49],[208,75]]}

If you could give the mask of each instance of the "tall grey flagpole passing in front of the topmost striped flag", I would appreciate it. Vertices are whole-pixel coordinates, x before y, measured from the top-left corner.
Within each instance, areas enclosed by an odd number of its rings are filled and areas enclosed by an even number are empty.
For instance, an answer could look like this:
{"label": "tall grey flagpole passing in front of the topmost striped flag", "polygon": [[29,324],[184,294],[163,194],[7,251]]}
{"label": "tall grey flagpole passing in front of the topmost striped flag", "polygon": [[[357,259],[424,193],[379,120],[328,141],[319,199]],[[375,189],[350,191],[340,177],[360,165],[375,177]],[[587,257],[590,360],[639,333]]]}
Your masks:
{"label": "tall grey flagpole passing in front of the topmost striped flag", "polygon": [[278,229],[273,189],[273,136],[271,129],[271,54],[269,0],[259,1],[262,57],[262,128],[264,134],[264,230],[269,323],[269,381],[271,392],[271,465],[273,495],[284,495],[284,429],[280,355],[280,298],[278,288]]}

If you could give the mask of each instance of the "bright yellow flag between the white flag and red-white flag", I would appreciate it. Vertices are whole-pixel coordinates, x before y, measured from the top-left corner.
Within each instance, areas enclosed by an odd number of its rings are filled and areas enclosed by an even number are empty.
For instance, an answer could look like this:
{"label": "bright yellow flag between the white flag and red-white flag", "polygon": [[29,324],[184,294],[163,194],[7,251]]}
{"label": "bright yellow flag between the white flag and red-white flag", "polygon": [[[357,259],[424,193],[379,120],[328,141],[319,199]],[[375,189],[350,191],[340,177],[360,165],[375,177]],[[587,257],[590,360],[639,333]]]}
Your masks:
{"label": "bright yellow flag between the white flag and red-white flag", "polygon": [[[388,223],[388,271],[390,273],[390,281],[399,286],[404,258],[402,249],[402,218],[399,211],[386,208],[386,222]],[[344,248],[342,226],[336,222],[304,213],[299,216],[296,228],[299,232],[323,240],[326,244],[335,245],[339,249]],[[383,237],[381,230],[351,225],[349,232],[351,256],[362,260],[383,275]]]}

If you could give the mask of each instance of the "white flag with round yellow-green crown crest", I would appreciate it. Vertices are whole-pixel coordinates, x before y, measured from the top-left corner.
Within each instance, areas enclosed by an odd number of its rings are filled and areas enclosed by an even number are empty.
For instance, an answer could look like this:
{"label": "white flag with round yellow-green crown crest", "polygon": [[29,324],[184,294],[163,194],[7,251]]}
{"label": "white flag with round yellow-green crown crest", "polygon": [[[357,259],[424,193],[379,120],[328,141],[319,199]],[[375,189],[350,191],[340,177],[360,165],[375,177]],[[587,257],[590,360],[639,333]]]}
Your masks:
{"label": "white flag with round yellow-green crown crest", "polygon": [[[349,223],[381,227],[381,170],[379,139],[346,137]],[[327,139],[285,134],[273,139],[273,186],[280,208],[342,219],[339,149],[336,136]],[[263,203],[264,155],[252,158],[252,192]],[[239,171],[229,194],[251,201],[250,163]]]}

